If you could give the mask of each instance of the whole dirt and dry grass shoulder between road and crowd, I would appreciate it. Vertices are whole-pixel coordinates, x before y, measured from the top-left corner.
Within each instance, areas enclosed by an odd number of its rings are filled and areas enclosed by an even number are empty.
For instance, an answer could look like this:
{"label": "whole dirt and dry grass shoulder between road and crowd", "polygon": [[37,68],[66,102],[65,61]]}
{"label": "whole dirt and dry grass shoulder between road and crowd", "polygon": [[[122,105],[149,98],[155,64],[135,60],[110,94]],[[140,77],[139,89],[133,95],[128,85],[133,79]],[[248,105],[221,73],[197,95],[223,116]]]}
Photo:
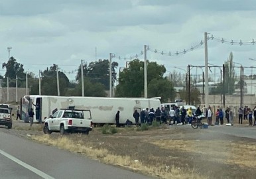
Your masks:
{"label": "whole dirt and dry grass shoulder between road and crowd", "polygon": [[[247,127],[247,126],[245,126]],[[41,125],[13,121],[5,133],[78,152],[101,162],[156,178],[255,178],[255,139],[214,134],[190,126],[160,126],[149,131],[118,128],[104,135],[44,135]],[[255,129],[256,130],[256,129]]]}

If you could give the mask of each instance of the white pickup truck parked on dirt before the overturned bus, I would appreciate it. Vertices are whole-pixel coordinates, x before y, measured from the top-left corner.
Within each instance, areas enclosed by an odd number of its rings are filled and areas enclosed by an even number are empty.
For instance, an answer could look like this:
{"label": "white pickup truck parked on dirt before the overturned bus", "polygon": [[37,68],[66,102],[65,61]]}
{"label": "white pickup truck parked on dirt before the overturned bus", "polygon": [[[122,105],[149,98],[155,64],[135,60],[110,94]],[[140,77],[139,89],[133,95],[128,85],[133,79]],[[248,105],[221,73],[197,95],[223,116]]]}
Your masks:
{"label": "white pickup truck parked on dirt before the overturned bus", "polygon": [[62,109],[56,111],[44,121],[44,133],[59,132],[64,135],[68,132],[89,134],[92,131],[92,115],[90,110]]}

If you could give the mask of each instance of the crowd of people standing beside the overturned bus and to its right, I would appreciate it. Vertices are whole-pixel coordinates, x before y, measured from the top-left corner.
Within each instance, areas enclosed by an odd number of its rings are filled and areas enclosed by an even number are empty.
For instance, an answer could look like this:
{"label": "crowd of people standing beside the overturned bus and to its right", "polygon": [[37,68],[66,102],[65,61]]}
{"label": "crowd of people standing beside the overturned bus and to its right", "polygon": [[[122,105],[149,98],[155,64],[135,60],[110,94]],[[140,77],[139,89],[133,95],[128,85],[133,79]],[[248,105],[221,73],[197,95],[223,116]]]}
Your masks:
{"label": "crowd of people standing beside the overturned bus and to its right", "polygon": [[[224,125],[224,119],[227,121],[227,123],[233,125],[234,120],[234,112],[231,110],[231,108],[227,107],[227,109],[223,110],[221,108],[218,108],[215,113],[212,111],[212,107],[208,107],[206,109],[206,119],[208,125]],[[115,115],[115,121],[117,127],[119,127],[119,111],[117,111],[117,114]],[[247,106],[239,107],[238,113],[238,123],[243,124],[243,120],[249,120],[249,125],[256,125],[256,106],[254,109],[251,109]],[[147,123],[148,125],[152,125],[153,121],[157,121],[157,123],[168,123],[171,124],[178,124],[178,125],[185,125],[190,124],[194,116],[200,116],[202,115],[202,111],[198,107],[196,111],[193,113],[191,107],[189,109],[185,109],[184,106],[177,107],[171,107],[169,110],[164,109],[162,107],[158,107],[156,110],[149,109],[143,109],[140,113],[137,109],[135,109],[133,113],[133,117],[135,119],[135,125],[140,125]],[[215,123],[213,123],[213,117],[216,117]],[[141,123],[139,123],[139,119],[141,119]],[[254,121],[253,121],[254,119]],[[172,121],[172,122],[171,122]],[[127,119],[126,125],[133,124],[129,119]]]}

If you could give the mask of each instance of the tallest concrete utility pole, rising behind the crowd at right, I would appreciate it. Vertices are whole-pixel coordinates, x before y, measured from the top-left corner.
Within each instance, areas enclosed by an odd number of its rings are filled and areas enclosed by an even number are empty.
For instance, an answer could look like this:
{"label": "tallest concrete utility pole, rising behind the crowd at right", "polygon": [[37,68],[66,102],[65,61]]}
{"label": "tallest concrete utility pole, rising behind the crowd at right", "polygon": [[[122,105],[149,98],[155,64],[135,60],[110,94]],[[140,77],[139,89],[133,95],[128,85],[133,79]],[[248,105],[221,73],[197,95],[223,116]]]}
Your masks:
{"label": "tallest concrete utility pole, rising behind the crowd at right", "polygon": [[207,32],[204,32],[204,61],[205,61],[205,78],[206,78],[206,107],[209,106],[209,86],[208,86],[208,46],[207,46]]}

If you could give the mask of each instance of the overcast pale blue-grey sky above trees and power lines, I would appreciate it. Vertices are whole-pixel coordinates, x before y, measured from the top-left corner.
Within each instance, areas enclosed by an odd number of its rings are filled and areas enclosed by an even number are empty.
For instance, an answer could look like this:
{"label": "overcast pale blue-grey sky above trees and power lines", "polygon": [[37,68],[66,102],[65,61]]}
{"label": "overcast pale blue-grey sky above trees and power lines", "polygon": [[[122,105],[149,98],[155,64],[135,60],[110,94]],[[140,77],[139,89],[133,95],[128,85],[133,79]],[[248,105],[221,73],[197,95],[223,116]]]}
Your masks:
{"label": "overcast pale blue-grey sky above trees and power lines", "polygon": [[[253,0],[1,0],[0,60],[7,62],[11,46],[10,56],[24,64],[25,71],[38,74],[58,64],[64,72],[72,72],[81,59],[96,60],[96,47],[97,59],[108,59],[110,52],[121,58],[135,56],[144,45],[160,52],[182,51],[204,40],[204,32],[227,41],[250,42],[256,40],[255,17]],[[208,60],[222,66],[233,52],[234,62],[256,66],[249,60],[256,59],[255,48],[256,44],[209,40]],[[204,66],[204,45],[178,56],[147,51],[147,57],[170,72],[183,73],[174,66],[184,70],[188,64]],[[125,67],[125,60],[113,61]],[[245,74],[251,70],[245,69]],[[68,75],[70,80],[74,76]]]}

